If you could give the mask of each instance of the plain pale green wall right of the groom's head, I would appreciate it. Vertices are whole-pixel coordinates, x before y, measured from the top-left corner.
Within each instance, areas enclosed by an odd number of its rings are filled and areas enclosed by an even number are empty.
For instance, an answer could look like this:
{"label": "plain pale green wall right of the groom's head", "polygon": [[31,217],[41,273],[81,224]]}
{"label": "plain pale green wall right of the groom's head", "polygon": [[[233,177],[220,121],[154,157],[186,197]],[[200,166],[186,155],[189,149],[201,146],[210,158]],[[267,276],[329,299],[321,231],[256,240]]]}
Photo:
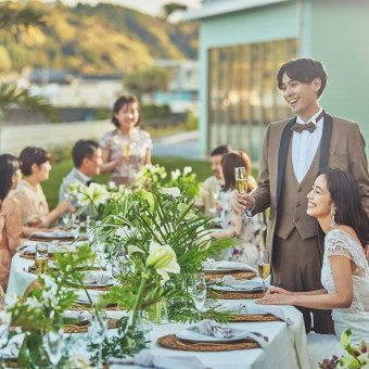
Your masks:
{"label": "plain pale green wall right of the groom's head", "polygon": [[309,55],[322,61],[328,72],[321,105],[332,115],[358,122],[369,144],[369,2],[326,0],[308,7],[305,20],[314,24]]}

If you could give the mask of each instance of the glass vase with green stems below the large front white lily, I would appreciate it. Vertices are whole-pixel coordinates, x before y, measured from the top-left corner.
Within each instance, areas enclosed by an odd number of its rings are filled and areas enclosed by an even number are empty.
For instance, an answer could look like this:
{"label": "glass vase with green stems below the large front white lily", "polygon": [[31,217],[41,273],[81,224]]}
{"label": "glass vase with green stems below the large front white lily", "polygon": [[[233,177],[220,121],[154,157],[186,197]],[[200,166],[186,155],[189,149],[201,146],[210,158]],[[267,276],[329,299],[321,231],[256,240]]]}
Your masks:
{"label": "glass vase with green stems below the large front white lily", "polygon": [[125,341],[127,343],[127,354],[139,353],[147,346],[147,327],[144,327],[142,310],[130,310],[128,325],[125,333]]}

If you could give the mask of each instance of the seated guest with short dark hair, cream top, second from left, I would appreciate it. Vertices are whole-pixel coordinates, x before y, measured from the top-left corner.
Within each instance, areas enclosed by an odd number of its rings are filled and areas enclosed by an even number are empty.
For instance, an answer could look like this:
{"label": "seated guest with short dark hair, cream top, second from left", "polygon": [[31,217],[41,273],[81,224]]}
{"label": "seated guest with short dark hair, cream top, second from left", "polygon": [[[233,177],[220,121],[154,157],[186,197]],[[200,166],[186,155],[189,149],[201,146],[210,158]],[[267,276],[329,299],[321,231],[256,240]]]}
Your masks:
{"label": "seated guest with short dark hair, cream top, second from left", "polygon": [[49,179],[51,170],[50,154],[39,148],[26,148],[20,155],[21,169],[24,179],[14,191],[14,196],[20,201],[22,221],[26,227],[49,228],[64,212],[74,212],[68,199],[60,202],[49,212],[41,181]]}

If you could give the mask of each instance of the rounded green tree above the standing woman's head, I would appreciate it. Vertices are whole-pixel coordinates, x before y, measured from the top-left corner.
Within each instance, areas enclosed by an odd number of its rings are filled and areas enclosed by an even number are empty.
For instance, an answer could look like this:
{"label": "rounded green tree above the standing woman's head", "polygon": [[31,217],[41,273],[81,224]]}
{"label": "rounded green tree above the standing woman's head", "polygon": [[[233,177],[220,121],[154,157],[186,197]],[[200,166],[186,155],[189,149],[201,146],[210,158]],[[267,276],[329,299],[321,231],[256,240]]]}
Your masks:
{"label": "rounded green tree above the standing woman's head", "polygon": [[124,79],[125,87],[138,97],[143,93],[153,96],[156,91],[167,91],[169,73],[158,66],[128,74]]}

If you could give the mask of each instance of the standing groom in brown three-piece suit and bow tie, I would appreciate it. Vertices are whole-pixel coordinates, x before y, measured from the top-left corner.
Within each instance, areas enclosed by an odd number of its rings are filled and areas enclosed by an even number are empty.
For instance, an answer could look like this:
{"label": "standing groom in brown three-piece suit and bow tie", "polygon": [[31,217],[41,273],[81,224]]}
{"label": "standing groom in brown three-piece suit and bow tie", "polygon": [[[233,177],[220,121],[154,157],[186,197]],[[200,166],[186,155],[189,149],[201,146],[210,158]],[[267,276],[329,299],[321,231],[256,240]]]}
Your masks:
{"label": "standing groom in brown three-piece suit and bow tie", "polygon": [[[332,117],[319,106],[327,78],[322,63],[311,59],[296,59],[281,66],[278,88],[295,116],[268,126],[258,188],[251,195],[238,195],[238,206],[249,214],[270,206],[266,245],[271,250],[272,284],[294,292],[322,289],[323,233],[316,218],[306,214],[306,196],[319,168],[349,171],[369,214],[365,140],[357,123]],[[315,332],[334,333],[330,310],[301,310],[307,332],[313,311]]]}

